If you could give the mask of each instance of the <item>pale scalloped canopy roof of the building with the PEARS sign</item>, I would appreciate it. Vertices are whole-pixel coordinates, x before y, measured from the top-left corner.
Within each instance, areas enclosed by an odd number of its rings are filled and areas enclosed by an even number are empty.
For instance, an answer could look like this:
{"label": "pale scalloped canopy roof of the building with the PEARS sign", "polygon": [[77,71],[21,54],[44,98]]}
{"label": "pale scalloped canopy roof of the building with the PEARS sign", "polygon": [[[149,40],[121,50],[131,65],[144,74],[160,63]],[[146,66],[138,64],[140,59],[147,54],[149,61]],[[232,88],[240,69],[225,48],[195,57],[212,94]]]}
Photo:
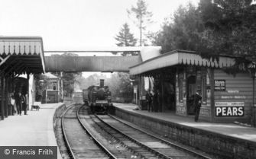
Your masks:
{"label": "pale scalloped canopy roof of the building with the PEARS sign", "polygon": [[144,72],[150,72],[159,68],[167,68],[173,65],[196,65],[214,68],[231,67],[235,65],[235,58],[220,56],[219,61],[203,59],[201,56],[192,51],[175,50],[167,52],[160,56],[147,59],[138,65],[129,68],[130,75],[140,75]]}

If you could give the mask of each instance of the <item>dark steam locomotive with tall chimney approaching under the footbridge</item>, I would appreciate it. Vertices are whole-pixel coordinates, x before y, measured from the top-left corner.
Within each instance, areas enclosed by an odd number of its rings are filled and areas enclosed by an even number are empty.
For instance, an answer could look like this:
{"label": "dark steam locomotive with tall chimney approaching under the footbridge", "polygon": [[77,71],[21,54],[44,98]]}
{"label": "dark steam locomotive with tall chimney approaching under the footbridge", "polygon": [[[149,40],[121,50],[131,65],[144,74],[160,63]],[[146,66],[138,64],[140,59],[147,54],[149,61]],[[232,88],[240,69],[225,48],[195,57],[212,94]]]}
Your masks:
{"label": "dark steam locomotive with tall chimney approaching under the footbridge", "polygon": [[107,113],[109,107],[112,107],[111,92],[108,86],[104,86],[103,79],[99,86],[92,85],[83,90],[83,100],[88,103],[92,113]]}

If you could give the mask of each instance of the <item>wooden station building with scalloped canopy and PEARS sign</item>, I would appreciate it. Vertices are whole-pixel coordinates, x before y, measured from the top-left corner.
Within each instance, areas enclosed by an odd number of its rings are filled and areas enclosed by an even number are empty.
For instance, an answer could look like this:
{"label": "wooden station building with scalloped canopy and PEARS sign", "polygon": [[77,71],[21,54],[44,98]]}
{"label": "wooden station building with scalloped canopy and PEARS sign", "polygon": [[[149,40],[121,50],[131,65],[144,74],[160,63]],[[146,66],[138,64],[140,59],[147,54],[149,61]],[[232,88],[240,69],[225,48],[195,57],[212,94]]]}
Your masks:
{"label": "wooden station building with scalloped canopy and PEARS sign", "polygon": [[236,67],[236,74],[228,72],[234,67],[232,56],[203,59],[196,52],[176,50],[130,67],[130,75],[138,77],[138,87],[144,83],[141,79],[154,78],[154,91],[160,91],[160,112],[193,116],[193,94],[198,92],[203,97],[199,119],[248,122],[253,112],[252,79],[245,65]]}

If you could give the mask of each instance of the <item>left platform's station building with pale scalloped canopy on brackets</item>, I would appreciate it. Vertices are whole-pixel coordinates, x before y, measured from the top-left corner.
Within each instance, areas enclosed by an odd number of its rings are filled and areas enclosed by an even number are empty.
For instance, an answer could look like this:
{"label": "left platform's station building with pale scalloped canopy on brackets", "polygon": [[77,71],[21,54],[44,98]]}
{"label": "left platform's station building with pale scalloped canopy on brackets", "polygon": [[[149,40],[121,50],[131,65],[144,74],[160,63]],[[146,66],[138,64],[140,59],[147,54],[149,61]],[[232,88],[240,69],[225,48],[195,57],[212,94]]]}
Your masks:
{"label": "left platform's station building with pale scalloped canopy on brackets", "polygon": [[[29,78],[44,72],[44,46],[41,37],[0,37],[0,114],[5,119],[11,115],[10,98],[13,94],[28,94]],[[20,78],[20,75],[26,75]]]}

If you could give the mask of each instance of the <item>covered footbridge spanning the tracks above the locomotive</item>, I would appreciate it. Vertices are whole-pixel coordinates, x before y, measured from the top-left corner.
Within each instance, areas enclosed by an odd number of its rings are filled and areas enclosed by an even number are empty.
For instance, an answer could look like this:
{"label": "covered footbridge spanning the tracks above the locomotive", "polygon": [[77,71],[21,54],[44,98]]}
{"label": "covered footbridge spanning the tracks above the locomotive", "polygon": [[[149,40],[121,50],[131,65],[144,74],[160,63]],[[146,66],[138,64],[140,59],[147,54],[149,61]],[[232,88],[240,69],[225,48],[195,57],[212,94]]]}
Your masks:
{"label": "covered footbridge spanning the tracks above the locomotive", "polygon": [[[152,56],[159,46],[115,47],[115,49],[87,49],[83,51],[44,52],[138,52],[138,56],[45,56],[46,72],[129,72],[129,67],[138,65]],[[154,56],[154,55],[153,55]]]}

